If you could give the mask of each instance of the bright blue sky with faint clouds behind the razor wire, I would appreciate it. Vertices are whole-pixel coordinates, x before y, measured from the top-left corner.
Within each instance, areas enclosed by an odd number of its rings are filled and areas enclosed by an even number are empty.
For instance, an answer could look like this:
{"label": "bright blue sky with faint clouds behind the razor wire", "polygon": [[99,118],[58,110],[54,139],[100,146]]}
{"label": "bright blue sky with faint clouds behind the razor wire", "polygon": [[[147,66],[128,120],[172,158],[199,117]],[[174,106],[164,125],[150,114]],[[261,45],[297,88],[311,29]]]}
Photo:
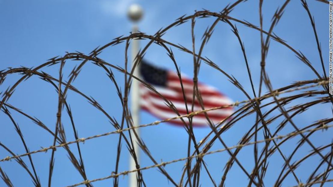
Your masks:
{"label": "bright blue sky with faint clouds behind the razor wire", "polygon": [[[47,59],[54,56],[63,56],[66,51],[80,51],[90,53],[97,46],[105,45],[121,35],[128,35],[131,31],[132,23],[128,20],[126,11],[130,4],[138,3],[144,9],[144,17],[139,23],[139,30],[147,34],[154,34],[161,27],[166,27],[178,17],[193,14],[194,10],[202,8],[219,12],[229,2],[233,1],[87,1],[87,0],[52,0],[52,1],[5,1],[0,0],[0,69],[7,67],[36,67],[45,63]],[[277,7],[281,7],[282,1],[264,1],[263,4],[263,28],[268,30],[271,18]],[[258,1],[246,1],[238,5],[230,16],[240,20],[246,20],[254,25],[259,25]],[[328,70],[328,5],[317,1],[308,2],[311,14],[314,16],[319,41],[323,50],[325,68]],[[207,26],[214,22],[215,18],[197,19],[195,26],[196,48],[201,44],[201,36]],[[260,34],[258,31],[236,24],[239,35],[244,42],[248,62],[254,80],[256,91],[259,85],[260,72]],[[316,70],[322,74],[320,59],[313,35],[309,17],[303,9],[300,1],[292,1],[285,10],[282,19],[275,27],[274,33],[296,50],[300,50]],[[179,43],[187,48],[191,48],[190,22],[170,29],[163,39]],[[148,41],[141,41],[144,46]],[[120,44],[105,49],[100,58],[105,61],[124,67],[125,45]],[[192,56],[185,54],[175,48],[172,49],[181,71],[191,76]],[[215,62],[227,73],[232,74],[242,84],[248,93],[251,92],[243,55],[237,38],[230,27],[225,23],[219,23],[206,45],[203,55]],[[158,45],[152,45],[145,58],[151,63],[160,67],[174,69],[164,49]],[[305,66],[294,53],[281,44],[271,41],[270,50],[266,59],[266,71],[269,73],[273,88],[287,86],[297,80],[312,80],[316,76],[307,66]],[[68,62],[64,69],[64,78],[67,78],[70,71],[77,62]],[[44,68],[43,71],[58,77],[59,66]],[[124,88],[123,74],[114,71],[115,78]],[[326,72],[328,73],[328,72]],[[21,75],[10,75],[1,85],[1,91],[5,91],[8,86],[13,85]],[[234,101],[245,100],[246,97],[237,88],[230,84],[227,78],[218,71],[213,70],[206,64],[202,64],[199,72],[199,80],[218,88],[221,92],[230,96]],[[103,108],[114,116],[121,119],[121,103],[117,96],[114,85],[110,82],[105,73],[93,64],[87,64],[81,71],[79,77],[73,85],[88,96],[93,96]],[[266,90],[265,90],[266,91]],[[251,95],[252,96],[252,95]],[[56,110],[58,96],[52,86],[37,77],[32,77],[21,83],[15,90],[8,103],[22,109],[28,114],[43,121],[50,129],[54,129],[56,123]],[[311,98],[299,100],[308,101]],[[76,93],[69,92],[67,100],[71,105],[73,117],[78,129],[79,137],[88,137],[95,134],[115,130],[108,119],[92,107],[86,99]],[[321,104],[314,106],[311,110],[299,115],[295,120],[300,127],[309,125],[315,120],[332,117],[331,106]],[[45,130],[36,126],[32,121],[23,117],[15,111],[11,111],[13,117],[18,122],[24,138],[30,150],[38,150],[40,147],[48,147],[52,144],[53,138]],[[279,111],[274,113],[279,114]],[[158,120],[152,115],[142,112],[141,123],[146,124]],[[272,129],[283,119],[278,119]],[[223,140],[228,146],[236,145],[238,140],[244,135],[255,121],[255,116],[250,116],[245,120],[240,120],[223,134]],[[64,126],[67,132],[67,140],[74,140],[73,132],[69,124],[68,117],[63,117]],[[19,136],[15,132],[14,126],[4,113],[0,113],[0,141],[8,146],[15,153],[25,152]],[[290,124],[289,124],[290,125]],[[292,130],[287,127],[285,132]],[[195,129],[196,139],[200,140],[207,133],[208,128]],[[315,133],[312,141],[315,145],[328,144],[331,141],[332,131]],[[141,137],[145,141],[152,155],[157,161],[170,161],[177,158],[186,157],[187,133],[181,127],[168,124],[161,124],[153,127],[142,128]],[[261,136],[262,138],[262,136]],[[294,139],[288,145],[283,145],[281,149],[286,151],[293,148],[293,143],[299,139]],[[114,170],[118,135],[97,138],[81,144],[83,159],[87,171],[88,179],[95,179],[108,176]],[[70,146],[76,151],[75,145]],[[221,149],[222,145],[216,142],[211,150]],[[298,156],[304,156],[310,150],[304,146],[303,152]],[[75,152],[74,151],[74,152]],[[251,171],[253,158],[253,147],[245,147],[237,157],[244,163],[245,168]],[[76,153],[76,152],[75,152]],[[325,152],[326,154],[326,152]],[[0,158],[9,154],[0,149]],[[47,184],[48,165],[51,151],[47,153],[37,153],[32,156],[36,166],[37,174],[42,185]],[[141,166],[153,165],[150,159],[141,154]],[[212,177],[216,182],[220,181],[221,171],[224,164],[229,159],[226,152],[208,155],[205,157],[208,168],[212,171]],[[271,158],[270,170],[267,171],[266,186],[271,186],[275,182],[274,171],[280,170],[283,161],[278,154]],[[23,160],[28,163],[27,158]],[[128,170],[129,155],[125,144],[122,146],[121,164],[119,171]],[[314,157],[308,163],[318,162],[319,157]],[[181,169],[184,162],[177,162],[167,165],[166,171],[176,182],[180,179]],[[1,162],[1,168],[13,181],[14,186],[32,186],[31,179],[27,173],[14,161]],[[29,165],[30,167],[30,165]],[[307,179],[311,165],[305,164],[298,168],[296,172],[302,181]],[[204,173],[204,172],[202,172]],[[171,186],[167,179],[158,172],[157,169],[143,171],[147,186]],[[201,176],[202,186],[210,186],[209,178],[206,174]],[[237,180],[227,180],[226,186],[245,186],[248,182],[246,176],[238,166],[234,166],[228,174],[228,178]],[[67,158],[64,150],[58,149],[55,157],[55,168],[53,172],[53,186],[66,186],[81,182],[83,179]],[[120,177],[120,186],[127,186],[128,176]],[[5,185],[0,181],[0,186]],[[94,183],[95,186],[110,186],[112,179]],[[295,180],[289,176],[284,185],[296,185]],[[328,185],[328,184],[326,184]]]}

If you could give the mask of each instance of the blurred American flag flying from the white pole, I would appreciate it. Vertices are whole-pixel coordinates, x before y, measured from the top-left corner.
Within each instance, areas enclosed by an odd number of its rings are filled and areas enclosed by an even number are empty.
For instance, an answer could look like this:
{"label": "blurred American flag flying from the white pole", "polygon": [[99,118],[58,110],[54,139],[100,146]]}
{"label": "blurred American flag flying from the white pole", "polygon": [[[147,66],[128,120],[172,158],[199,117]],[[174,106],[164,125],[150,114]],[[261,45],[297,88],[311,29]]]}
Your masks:
{"label": "blurred American flag flying from the white pole", "polygon": [[[171,101],[177,109],[180,115],[186,115],[186,106],[184,102],[183,92],[180,85],[180,80],[175,72],[168,71],[162,68],[150,65],[146,61],[142,61],[140,67],[140,75],[144,81],[154,86],[156,91],[163,95],[167,100]],[[181,80],[186,95],[186,102],[188,111],[191,112],[192,98],[193,98],[193,81],[181,75]],[[203,105],[205,109],[219,107],[223,105],[229,105],[232,101],[220,93],[216,88],[202,84],[198,82],[198,88],[201,93]],[[143,84],[140,84],[140,106],[143,110],[148,111],[152,115],[164,120],[177,116],[173,110],[171,110],[157,93],[150,90]],[[195,98],[194,110],[202,110],[199,102]],[[211,110],[207,112],[207,115],[211,122],[214,124],[227,118],[233,113],[232,107]],[[187,119],[184,119],[188,123]],[[173,124],[183,125],[180,119],[169,121]],[[207,119],[204,113],[195,115],[192,120],[193,126],[208,126]]]}

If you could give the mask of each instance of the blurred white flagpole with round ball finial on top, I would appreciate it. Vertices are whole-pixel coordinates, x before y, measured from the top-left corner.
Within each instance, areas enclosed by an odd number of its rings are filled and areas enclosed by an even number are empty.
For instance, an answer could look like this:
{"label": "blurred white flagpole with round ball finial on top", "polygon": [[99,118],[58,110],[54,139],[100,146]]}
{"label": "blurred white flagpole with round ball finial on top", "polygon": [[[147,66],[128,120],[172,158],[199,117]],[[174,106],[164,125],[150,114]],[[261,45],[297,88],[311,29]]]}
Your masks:
{"label": "blurred white flagpole with round ball finial on top", "polygon": [[[133,22],[137,22],[142,17],[142,9],[139,5],[133,4],[130,6],[128,11],[128,16]],[[132,33],[138,32],[138,26],[134,23],[132,27]],[[132,40],[132,68],[134,65],[134,59],[139,52],[139,40]],[[135,68],[133,75],[139,77],[138,66]],[[139,94],[139,81],[132,78],[132,87],[131,87],[131,114],[133,119],[133,125],[139,125],[139,112],[140,112],[140,94]],[[138,137],[139,137],[139,129],[135,129]],[[140,161],[140,149],[139,145],[137,144],[136,136],[134,135],[133,131],[131,131],[131,136],[133,140],[134,151],[137,156],[138,162]],[[134,170],[136,168],[136,164],[132,156],[130,156],[130,170]],[[129,187],[136,187],[137,186],[137,172],[132,172],[129,174]]]}

